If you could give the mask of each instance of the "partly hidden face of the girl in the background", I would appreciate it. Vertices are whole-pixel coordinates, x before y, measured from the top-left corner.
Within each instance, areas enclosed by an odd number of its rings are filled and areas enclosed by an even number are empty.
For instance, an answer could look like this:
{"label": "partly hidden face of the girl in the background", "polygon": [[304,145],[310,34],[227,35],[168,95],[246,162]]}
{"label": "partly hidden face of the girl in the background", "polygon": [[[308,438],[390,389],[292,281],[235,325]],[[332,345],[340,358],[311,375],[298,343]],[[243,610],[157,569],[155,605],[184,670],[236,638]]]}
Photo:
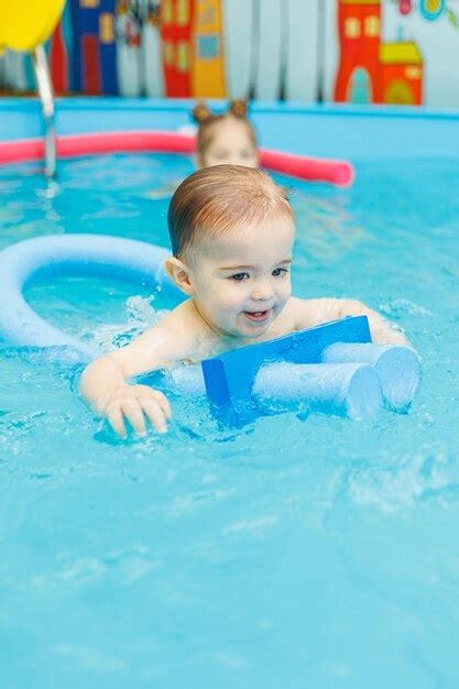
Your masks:
{"label": "partly hidden face of the girl in the background", "polygon": [[243,121],[228,117],[214,125],[212,138],[206,150],[201,167],[212,165],[243,165],[258,167],[259,156],[249,128]]}

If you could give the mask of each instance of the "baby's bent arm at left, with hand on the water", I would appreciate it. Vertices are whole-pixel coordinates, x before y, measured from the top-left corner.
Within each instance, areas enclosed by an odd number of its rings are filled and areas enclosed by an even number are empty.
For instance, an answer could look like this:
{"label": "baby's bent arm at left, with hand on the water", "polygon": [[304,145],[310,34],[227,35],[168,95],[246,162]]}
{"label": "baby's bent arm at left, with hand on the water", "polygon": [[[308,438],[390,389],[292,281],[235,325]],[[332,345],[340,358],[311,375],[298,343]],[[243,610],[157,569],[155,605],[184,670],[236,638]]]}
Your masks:
{"label": "baby's bent arm at left, with hand on the water", "polygon": [[163,393],[128,381],[142,373],[170,367],[189,354],[194,328],[186,317],[182,317],[182,311],[173,311],[131,344],[97,359],[83,372],[79,382],[83,396],[96,414],[105,416],[124,438],[124,419],[141,436],[146,434],[145,417],[159,433],[167,429],[171,407]]}

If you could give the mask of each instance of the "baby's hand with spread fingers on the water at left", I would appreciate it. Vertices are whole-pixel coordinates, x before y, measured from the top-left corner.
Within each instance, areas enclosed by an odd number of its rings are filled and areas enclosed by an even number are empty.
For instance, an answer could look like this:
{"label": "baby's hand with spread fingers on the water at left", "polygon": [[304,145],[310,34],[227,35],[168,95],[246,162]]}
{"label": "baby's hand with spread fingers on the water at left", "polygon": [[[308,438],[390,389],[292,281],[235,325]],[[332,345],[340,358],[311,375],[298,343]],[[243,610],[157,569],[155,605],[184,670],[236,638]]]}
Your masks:
{"label": "baby's hand with spread fingers on the water at left", "polygon": [[112,389],[97,404],[99,414],[122,438],[127,437],[124,418],[139,436],[146,435],[145,416],[157,433],[166,433],[171,406],[163,393],[147,385],[122,384]]}

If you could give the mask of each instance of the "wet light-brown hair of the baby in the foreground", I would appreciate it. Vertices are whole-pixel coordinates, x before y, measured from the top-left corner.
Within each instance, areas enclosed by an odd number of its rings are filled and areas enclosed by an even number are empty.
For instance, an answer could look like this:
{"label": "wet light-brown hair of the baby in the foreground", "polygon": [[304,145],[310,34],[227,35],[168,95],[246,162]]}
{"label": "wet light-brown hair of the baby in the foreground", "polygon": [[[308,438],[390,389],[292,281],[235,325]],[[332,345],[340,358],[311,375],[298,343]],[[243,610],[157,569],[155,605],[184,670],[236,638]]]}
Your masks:
{"label": "wet light-brown hair of the baby in the foreground", "polygon": [[167,226],[173,254],[200,239],[225,234],[236,225],[263,221],[270,215],[293,219],[288,192],[267,173],[242,165],[203,167],[182,182],[171,199]]}

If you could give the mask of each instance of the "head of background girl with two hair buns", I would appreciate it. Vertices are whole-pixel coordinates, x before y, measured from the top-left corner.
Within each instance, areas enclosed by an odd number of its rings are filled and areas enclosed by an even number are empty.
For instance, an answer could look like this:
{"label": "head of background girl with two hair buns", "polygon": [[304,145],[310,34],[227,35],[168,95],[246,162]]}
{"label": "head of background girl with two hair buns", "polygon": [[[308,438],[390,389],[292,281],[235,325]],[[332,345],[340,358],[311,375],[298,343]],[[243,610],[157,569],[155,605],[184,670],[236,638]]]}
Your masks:
{"label": "head of background girl with two hair buns", "polygon": [[206,103],[198,103],[193,117],[198,124],[198,167],[225,163],[258,167],[256,136],[244,100],[232,100],[222,114],[212,114]]}

